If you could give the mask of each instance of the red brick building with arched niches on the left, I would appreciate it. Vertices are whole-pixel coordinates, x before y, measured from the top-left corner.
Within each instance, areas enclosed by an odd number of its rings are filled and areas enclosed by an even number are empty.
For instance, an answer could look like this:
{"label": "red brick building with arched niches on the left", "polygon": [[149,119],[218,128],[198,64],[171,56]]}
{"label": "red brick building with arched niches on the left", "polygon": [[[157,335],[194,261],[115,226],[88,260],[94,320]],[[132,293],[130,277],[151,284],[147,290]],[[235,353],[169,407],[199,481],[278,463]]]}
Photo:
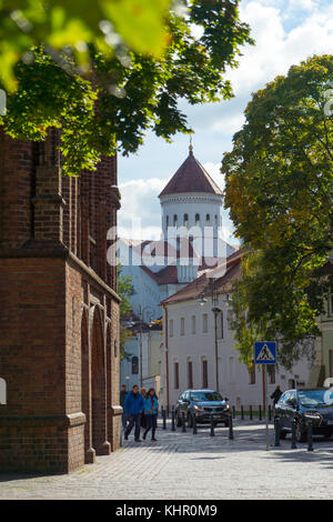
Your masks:
{"label": "red brick building with arched niches on the left", "polygon": [[67,473],[120,445],[117,159],[64,178],[58,140],[0,134],[0,470]]}

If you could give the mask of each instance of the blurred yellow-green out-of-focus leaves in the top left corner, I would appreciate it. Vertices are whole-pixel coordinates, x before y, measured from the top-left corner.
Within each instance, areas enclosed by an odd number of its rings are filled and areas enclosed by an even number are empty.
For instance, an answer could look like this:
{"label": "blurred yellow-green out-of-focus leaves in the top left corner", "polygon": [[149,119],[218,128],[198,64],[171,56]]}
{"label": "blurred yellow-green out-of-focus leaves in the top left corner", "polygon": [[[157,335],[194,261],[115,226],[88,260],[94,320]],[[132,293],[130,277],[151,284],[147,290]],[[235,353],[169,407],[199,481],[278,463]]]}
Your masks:
{"label": "blurred yellow-green out-of-focus leaves in the top left corner", "polygon": [[135,52],[161,58],[170,40],[171,0],[1,0],[0,78],[16,86],[14,66],[33,46],[71,46],[77,61],[89,64],[84,43],[113,54],[120,38]]}

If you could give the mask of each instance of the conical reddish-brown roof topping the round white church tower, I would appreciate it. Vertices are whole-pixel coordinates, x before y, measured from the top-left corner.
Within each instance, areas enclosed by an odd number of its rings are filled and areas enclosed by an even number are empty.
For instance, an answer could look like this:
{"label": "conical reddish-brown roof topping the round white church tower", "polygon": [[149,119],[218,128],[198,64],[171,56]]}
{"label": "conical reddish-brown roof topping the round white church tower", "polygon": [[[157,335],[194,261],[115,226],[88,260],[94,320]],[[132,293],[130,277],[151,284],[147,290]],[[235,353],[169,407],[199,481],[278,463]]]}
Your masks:
{"label": "conical reddish-brown roof topping the round white church tower", "polygon": [[222,195],[221,189],[216,185],[206,170],[204,170],[202,164],[194,158],[191,150],[183,164],[171,178],[159,198],[162,195],[183,192],[205,192]]}

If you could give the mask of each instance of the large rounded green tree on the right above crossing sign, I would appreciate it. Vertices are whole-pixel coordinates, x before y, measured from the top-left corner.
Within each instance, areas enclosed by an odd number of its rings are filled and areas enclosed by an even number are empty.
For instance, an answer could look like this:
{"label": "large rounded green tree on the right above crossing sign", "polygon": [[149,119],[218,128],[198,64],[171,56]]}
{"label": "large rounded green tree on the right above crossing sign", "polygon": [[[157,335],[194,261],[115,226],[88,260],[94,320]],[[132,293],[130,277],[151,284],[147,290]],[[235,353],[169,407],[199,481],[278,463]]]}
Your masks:
{"label": "large rounded green tree on the right above crossing sign", "polygon": [[332,56],[293,66],[253,94],[223,158],[225,207],[246,252],[234,328],[248,363],[254,340],[276,339],[290,368],[320,333],[333,248],[332,87]]}

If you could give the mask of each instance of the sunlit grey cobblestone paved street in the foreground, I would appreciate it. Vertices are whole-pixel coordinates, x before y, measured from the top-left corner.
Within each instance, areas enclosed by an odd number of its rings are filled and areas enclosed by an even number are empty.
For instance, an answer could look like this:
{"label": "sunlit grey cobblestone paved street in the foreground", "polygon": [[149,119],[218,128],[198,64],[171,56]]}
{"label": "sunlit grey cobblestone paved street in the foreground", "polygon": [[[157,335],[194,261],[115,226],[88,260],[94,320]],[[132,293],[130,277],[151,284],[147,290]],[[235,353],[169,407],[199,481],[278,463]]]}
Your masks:
{"label": "sunlit grey cobblestone paved street in the foreground", "polygon": [[233,441],[215,433],[159,429],[159,442],[130,440],[70,475],[0,474],[0,499],[333,499],[333,441],[265,451],[263,424],[250,421],[235,422]]}

